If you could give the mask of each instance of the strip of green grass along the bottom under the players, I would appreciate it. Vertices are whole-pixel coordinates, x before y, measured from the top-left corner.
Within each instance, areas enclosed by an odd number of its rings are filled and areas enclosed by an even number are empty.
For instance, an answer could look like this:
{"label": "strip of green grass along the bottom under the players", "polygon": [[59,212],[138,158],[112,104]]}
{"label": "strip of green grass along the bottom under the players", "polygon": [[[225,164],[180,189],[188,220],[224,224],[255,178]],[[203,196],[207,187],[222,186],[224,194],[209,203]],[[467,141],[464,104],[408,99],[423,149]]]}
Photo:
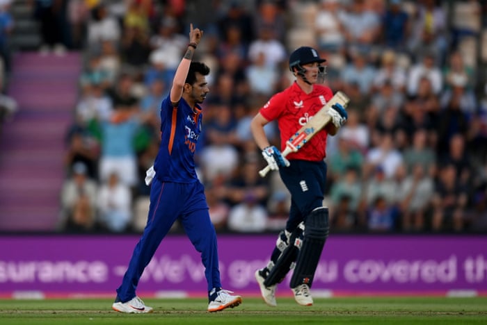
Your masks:
{"label": "strip of green grass along the bottom under the players", "polygon": [[144,299],[154,313],[111,310],[111,299],[0,300],[0,324],[487,324],[487,297],[347,297],[314,299],[311,307],[260,298],[207,313],[205,299]]}

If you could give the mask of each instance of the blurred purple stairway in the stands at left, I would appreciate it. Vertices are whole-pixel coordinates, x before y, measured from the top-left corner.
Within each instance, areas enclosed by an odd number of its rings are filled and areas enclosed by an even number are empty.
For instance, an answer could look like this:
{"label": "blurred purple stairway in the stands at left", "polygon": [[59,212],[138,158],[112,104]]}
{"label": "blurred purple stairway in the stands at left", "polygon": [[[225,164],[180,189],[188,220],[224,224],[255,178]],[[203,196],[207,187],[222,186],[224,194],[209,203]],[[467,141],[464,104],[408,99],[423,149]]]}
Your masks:
{"label": "blurred purple stairway in the stands at left", "polygon": [[19,109],[0,135],[0,232],[55,230],[80,72],[80,53],[15,53],[8,94]]}

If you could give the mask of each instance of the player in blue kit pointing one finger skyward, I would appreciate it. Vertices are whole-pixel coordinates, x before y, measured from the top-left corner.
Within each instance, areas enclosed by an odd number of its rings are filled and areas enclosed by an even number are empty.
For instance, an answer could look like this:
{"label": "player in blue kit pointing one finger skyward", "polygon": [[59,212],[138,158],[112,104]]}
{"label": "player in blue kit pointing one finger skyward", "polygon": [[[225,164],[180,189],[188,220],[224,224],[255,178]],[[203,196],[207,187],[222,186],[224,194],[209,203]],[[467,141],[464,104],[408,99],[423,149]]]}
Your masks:
{"label": "player in blue kit pointing one finger skyward", "polygon": [[[175,76],[170,94],[161,104],[161,144],[154,161],[147,225],[132,254],[129,267],[117,289],[113,310],[121,313],[150,313],[152,308],[137,297],[142,273],[176,219],[205,266],[209,297],[208,311],[239,306],[240,296],[221,288],[216,232],[209,218],[202,183],[195,172],[194,152],[200,137],[200,103],[209,92],[205,76],[209,67],[191,62],[203,32],[191,24],[189,44]],[[149,182],[150,182],[149,181]]]}

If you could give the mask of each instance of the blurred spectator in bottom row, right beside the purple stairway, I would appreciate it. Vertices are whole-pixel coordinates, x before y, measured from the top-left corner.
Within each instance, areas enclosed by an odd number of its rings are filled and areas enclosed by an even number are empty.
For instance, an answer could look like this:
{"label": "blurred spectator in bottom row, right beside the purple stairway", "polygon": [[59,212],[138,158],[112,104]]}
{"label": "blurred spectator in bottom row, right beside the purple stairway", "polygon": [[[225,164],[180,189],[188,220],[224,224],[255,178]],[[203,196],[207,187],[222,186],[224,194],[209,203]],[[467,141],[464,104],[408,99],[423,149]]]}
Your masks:
{"label": "blurred spectator in bottom row, right beside the purple stairway", "polygon": [[98,185],[88,178],[86,165],[76,163],[61,190],[58,228],[75,233],[95,230]]}

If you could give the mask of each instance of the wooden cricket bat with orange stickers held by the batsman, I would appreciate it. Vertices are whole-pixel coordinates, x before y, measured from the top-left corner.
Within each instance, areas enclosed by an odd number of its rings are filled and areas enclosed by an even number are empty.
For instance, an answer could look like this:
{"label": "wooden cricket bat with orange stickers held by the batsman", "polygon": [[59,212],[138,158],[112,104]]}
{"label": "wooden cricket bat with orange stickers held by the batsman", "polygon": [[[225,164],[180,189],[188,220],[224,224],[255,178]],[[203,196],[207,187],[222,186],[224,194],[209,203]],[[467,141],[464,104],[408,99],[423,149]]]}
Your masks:
{"label": "wooden cricket bat with orange stickers held by the batsman", "polygon": [[[301,127],[294,135],[292,135],[286,142],[286,147],[282,151],[282,156],[285,157],[289,153],[296,152],[301,149],[308,141],[314,137],[322,128],[326,126],[331,121],[328,109],[335,103],[340,103],[345,108],[350,99],[343,92],[336,92],[335,95],[326,103],[321,110],[319,110],[312,119],[303,127]],[[259,171],[261,177],[266,176],[266,174],[271,170],[271,167],[266,166],[264,169]]]}

